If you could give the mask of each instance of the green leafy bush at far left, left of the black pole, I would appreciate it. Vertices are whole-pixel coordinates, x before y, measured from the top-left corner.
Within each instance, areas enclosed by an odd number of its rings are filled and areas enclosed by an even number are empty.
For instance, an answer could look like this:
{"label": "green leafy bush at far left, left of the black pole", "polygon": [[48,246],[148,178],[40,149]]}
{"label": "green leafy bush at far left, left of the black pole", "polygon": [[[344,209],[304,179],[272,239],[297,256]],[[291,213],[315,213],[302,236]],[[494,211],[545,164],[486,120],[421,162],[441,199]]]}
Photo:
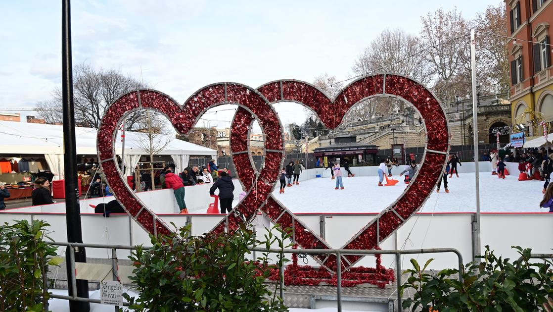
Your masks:
{"label": "green leafy bush at far left, left of the black pole", "polygon": [[58,265],[56,247],[45,234],[48,223],[27,220],[0,226],[0,311],[43,311],[49,299],[43,287],[46,262]]}

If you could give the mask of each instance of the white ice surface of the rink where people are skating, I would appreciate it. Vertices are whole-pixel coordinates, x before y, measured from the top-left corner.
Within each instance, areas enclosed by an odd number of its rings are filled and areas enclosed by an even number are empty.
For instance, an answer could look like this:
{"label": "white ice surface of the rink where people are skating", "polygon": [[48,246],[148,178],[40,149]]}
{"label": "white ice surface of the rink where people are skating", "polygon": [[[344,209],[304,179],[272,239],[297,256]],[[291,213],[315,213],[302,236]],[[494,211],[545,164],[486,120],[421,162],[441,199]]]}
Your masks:
{"label": "white ice surface of the rink where people are skating", "polygon": [[[407,184],[403,177],[394,186],[378,186],[378,176],[343,177],[343,190],[335,190],[335,181],[317,178],[301,181],[299,185],[285,188],[279,194],[278,186],[273,195],[292,212],[380,212],[397,199]],[[518,175],[508,175],[505,180],[491,173],[480,173],[480,209],[482,212],[547,212],[539,202],[544,182],[518,181]],[[416,183],[416,180],[415,180]],[[461,173],[459,178],[448,178],[440,193],[433,191],[421,212],[474,212],[476,211],[476,187],[474,173]]]}

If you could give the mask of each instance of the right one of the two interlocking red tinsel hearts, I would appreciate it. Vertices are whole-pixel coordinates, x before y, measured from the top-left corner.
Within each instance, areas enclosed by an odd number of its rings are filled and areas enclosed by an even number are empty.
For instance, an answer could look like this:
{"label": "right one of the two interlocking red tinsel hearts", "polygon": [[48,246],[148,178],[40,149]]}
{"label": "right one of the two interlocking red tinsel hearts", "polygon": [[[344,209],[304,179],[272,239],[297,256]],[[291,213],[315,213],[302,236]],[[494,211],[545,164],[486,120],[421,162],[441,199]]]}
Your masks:
{"label": "right one of the two interlocking red tinsel hearts", "polygon": [[[330,100],[315,86],[303,81],[280,80],[260,86],[261,92],[271,103],[296,102],[311,108],[317,113],[327,128],[336,128],[346,112],[353,105],[372,96],[396,96],[413,103],[425,122],[427,134],[426,153],[421,166],[411,184],[392,205],[382,211],[374,220],[363,227],[344,249],[374,249],[379,243],[389,237],[395,230],[405,223],[430,196],[432,189],[440,178],[447,158],[449,148],[448,127],[445,112],[439,102],[424,86],[411,79],[398,75],[374,75],[363,77],[346,86],[335,100]],[[249,153],[246,150],[249,126],[253,116],[239,108],[233,119],[231,131],[231,151],[237,174],[246,189],[251,189],[249,183],[255,169],[249,162]],[[234,150],[246,150],[246,153],[235,155]],[[294,241],[303,248],[330,248],[324,240],[309,231],[306,226],[295,219],[272,195],[261,209],[273,222],[282,228],[294,229]],[[344,267],[351,267],[362,256],[342,256]],[[316,258],[327,268],[335,269],[336,259],[333,256]]]}

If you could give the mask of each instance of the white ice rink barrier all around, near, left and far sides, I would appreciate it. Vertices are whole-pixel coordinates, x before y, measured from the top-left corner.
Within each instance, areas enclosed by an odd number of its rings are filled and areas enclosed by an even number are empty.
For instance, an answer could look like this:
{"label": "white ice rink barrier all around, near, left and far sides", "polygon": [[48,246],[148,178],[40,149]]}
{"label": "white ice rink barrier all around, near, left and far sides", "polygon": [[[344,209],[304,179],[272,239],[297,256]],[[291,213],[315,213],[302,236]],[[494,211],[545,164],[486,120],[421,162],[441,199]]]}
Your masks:
{"label": "white ice rink barrier all around, near, left and far sides", "polygon": [[[511,174],[517,174],[518,164],[507,163]],[[356,175],[377,175],[377,167],[351,167]],[[474,163],[463,163],[458,167],[459,172],[474,172]],[[489,173],[492,171],[491,163],[480,162],[479,171]],[[392,172],[398,175],[403,166],[394,167]],[[300,181],[314,179],[317,174],[330,178],[330,169],[307,169],[300,175]],[[242,192],[241,185],[234,179],[234,197],[237,199]],[[213,198],[209,196],[210,184],[187,186],[185,188],[185,200],[190,210],[206,209]],[[166,221],[175,223],[176,227],[182,227],[186,222],[192,226],[192,235],[202,235],[210,231],[217,222],[222,220],[222,215],[179,215],[173,190],[155,190],[137,193],[137,196],[148,207],[154,207],[154,211]],[[112,197],[100,197],[80,201],[82,236],[85,243],[111,244],[111,245],[145,245],[150,244],[147,233],[132,221],[131,217],[122,214],[112,214],[105,218],[99,214],[93,214],[89,204],[96,205],[107,202]],[[324,236],[332,248],[342,247],[353,235],[371,221],[376,214],[332,214],[332,213],[301,213],[296,214],[314,233]],[[412,217],[397,233],[389,237],[380,246],[382,249],[414,249],[414,248],[446,248],[458,249],[463,255],[463,261],[472,259],[472,217],[473,212],[440,212],[432,214],[421,213]],[[535,213],[482,213],[481,215],[481,241],[483,246],[489,245],[503,257],[516,258],[518,254],[511,246],[532,248],[534,253],[551,253],[553,246],[553,229],[549,226],[553,214]],[[66,242],[65,204],[31,206],[0,211],[0,222],[11,223],[13,220],[44,220],[50,224],[49,236],[54,241]],[[269,222],[262,216],[254,221],[258,231],[265,231]],[[519,230],[520,229],[520,230]],[[544,232],[545,231],[545,232]],[[260,233],[259,237],[263,237]],[[122,252],[126,257],[128,253]],[[108,252],[101,249],[87,249],[88,257],[109,257]],[[393,256],[382,256],[385,266],[394,267]],[[409,259],[416,258],[419,262],[426,262],[429,258],[435,258],[430,265],[431,269],[455,268],[456,256],[454,254],[421,254],[403,257],[403,266],[409,265]],[[309,264],[316,265],[310,260]],[[374,266],[374,257],[364,257],[358,266]]]}

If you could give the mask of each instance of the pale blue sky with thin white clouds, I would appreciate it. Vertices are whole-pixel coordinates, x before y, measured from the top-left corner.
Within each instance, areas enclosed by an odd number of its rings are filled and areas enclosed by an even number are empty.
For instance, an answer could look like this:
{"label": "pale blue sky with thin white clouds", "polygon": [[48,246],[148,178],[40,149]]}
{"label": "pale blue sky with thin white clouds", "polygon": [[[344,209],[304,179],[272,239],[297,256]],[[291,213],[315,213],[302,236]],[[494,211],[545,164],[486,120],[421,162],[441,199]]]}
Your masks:
{"label": "pale blue sky with thin white clouds", "polygon": [[[72,61],[119,69],[182,103],[214,82],[258,87],[277,79],[312,82],[325,73],[347,79],[354,60],[384,29],[417,34],[420,16],[440,7],[456,6],[473,18],[498,3],[73,1]],[[61,1],[3,1],[0,12],[0,111],[29,110],[61,86]],[[213,109],[198,126],[228,127],[228,108]],[[275,110],[283,124],[306,116],[295,103]]]}

